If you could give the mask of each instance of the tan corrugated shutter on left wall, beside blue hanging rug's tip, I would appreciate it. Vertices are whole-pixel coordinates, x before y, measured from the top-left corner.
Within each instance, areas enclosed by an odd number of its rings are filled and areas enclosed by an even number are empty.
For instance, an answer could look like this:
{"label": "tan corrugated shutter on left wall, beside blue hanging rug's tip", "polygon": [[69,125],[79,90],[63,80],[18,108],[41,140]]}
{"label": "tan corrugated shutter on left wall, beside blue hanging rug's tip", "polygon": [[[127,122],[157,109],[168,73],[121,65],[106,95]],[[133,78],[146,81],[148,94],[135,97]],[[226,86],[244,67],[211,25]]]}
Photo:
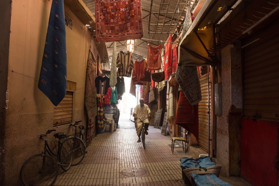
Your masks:
{"label": "tan corrugated shutter on left wall, beside blue hanging rug's tip", "polygon": [[57,107],[54,107],[53,125],[72,122],[72,116],[73,92],[67,91],[64,99],[57,105]]}

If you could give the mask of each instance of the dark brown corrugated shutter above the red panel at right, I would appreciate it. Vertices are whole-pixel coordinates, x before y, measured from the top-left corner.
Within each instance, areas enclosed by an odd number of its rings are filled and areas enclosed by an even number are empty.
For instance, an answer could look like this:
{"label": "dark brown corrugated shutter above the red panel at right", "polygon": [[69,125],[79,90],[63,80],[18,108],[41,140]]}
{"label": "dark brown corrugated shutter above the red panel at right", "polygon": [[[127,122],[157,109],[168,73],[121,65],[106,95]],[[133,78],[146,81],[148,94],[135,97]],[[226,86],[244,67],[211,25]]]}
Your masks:
{"label": "dark brown corrugated shutter above the red panel at right", "polygon": [[[244,117],[279,121],[279,25],[254,34],[244,46]],[[252,44],[249,44],[252,43]]]}

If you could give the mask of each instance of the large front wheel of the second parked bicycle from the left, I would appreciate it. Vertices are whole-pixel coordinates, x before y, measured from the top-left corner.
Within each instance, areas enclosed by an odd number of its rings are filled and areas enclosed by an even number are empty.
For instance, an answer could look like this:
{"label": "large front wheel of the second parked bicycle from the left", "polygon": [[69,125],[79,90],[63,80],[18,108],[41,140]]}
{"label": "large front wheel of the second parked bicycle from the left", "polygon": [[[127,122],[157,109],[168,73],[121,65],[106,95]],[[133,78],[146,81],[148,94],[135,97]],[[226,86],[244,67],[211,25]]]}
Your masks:
{"label": "large front wheel of the second parked bicycle from the left", "polygon": [[82,162],[85,156],[85,145],[83,141],[79,138],[69,138],[69,141],[73,148],[73,161],[72,166],[78,165]]}

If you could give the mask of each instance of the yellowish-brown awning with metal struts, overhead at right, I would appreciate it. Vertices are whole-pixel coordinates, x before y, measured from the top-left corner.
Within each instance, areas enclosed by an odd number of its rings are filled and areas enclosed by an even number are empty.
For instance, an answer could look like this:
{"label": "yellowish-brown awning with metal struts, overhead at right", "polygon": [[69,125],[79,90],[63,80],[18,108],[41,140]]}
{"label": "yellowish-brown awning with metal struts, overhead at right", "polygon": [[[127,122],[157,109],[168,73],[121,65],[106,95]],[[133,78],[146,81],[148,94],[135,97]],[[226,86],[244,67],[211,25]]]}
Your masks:
{"label": "yellowish-brown awning with metal struts, overhead at right", "polygon": [[178,47],[178,63],[201,66],[217,65],[210,48],[215,46],[214,25],[236,0],[206,0]]}

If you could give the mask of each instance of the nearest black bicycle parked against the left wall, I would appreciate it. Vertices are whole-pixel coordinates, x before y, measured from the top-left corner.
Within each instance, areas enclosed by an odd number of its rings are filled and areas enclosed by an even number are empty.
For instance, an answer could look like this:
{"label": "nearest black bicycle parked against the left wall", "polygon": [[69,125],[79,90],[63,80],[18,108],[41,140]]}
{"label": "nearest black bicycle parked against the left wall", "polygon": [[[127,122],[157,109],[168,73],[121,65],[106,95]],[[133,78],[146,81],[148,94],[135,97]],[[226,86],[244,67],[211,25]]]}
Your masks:
{"label": "nearest black bicycle parked against the left wall", "polygon": [[[47,143],[47,135],[54,130],[48,130],[46,134],[38,135],[39,139],[44,140],[44,149],[42,153],[35,154],[27,159],[20,170],[20,179],[25,186],[35,185],[53,185],[58,176],[58,165],[65,171],[69,170],[72,163],[72,146],[64,140],[67,135],[65,133],[55,133],[55,138],[58,138],[57,155],[51,151]],[[46,138],[43,139],[43,136]],[[47,155],[47,153],[49,155]],[[57,157],[55,160],[52,155]]]}

